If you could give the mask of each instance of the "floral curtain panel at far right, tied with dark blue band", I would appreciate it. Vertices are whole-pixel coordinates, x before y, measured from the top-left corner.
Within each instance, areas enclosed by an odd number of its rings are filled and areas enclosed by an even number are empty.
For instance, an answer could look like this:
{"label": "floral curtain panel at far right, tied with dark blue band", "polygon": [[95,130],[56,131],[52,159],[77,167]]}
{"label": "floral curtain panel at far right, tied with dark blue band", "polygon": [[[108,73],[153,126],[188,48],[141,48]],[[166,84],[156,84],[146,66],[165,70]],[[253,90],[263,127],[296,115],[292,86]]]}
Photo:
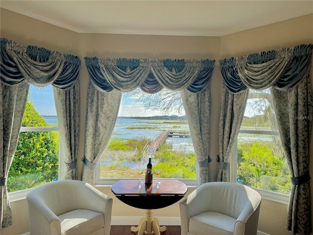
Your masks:
{"label": "floral curtain panel at far right, tied with dark blue band", "polygon": [[309,146],[313,97],[309,71],[287,91],[271,89],[277,124],[291,175],[287,226],[294,234],[309,235],[310,216]]}

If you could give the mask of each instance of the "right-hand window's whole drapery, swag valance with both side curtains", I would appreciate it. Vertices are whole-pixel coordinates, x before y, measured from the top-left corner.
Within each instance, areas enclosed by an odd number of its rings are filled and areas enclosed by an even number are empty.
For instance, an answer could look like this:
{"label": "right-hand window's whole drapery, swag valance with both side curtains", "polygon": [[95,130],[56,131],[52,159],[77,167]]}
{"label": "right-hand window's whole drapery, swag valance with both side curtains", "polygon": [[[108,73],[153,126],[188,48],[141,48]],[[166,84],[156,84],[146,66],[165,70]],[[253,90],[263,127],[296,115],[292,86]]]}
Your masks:
{"label": "right-hand window's whole drapery, swag valance with both side curtains", "polygon": [[[218,181],[229,181],[228,166],[244,117],[249,89],[270,88],[278,130],[291,174],[287,227],[309,235],[309,141],[313,98],[309,70],[313,45],[299,45],[220,61],[223,75]],[[249,89],[248,89],[249,88]],[[244,101],[244,102],[243,102]]]}

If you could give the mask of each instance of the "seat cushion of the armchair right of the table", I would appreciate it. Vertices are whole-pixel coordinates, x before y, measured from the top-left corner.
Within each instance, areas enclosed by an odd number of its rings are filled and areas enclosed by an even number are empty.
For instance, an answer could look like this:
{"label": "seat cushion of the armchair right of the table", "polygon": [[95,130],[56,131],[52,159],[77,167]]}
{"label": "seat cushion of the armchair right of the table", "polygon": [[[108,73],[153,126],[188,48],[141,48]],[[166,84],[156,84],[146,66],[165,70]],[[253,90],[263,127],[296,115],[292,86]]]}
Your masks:
{"label": "seat cushion of the armchair right of the table", "polygon": [[190,217],[189,232],[197,235],[233,235],[236,219],[228,215],[206,211]]}

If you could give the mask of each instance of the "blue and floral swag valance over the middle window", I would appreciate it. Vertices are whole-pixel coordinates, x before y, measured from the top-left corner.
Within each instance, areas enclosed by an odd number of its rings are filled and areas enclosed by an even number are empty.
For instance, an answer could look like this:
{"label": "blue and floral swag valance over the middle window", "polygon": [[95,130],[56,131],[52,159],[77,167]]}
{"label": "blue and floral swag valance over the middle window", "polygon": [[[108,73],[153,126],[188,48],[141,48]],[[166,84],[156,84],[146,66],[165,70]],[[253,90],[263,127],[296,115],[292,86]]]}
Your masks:
{"label": "blue and floral swag valance over the middle window", "polygon": [[166,88],[187,89],[192,93],[204,89],[212,76],[214,60],[150,60],[85,57],[92,83],[97,89],[130,92],[140,88],[154,94]]}

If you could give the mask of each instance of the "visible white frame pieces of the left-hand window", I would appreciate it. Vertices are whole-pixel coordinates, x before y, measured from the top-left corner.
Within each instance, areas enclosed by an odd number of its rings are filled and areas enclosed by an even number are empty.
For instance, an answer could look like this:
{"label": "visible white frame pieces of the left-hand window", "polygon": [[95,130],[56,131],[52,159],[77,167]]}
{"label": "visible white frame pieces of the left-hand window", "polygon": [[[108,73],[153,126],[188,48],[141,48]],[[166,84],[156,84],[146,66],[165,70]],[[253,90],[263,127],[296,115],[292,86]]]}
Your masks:
{"label": "visible white frame pieces of the left-hand window", "polygon": [[[21,132],[33,132],[33,131],[60,131],[59,126],[51,126],[51,127],[21,127]],[[59,172],[58,172],[58,180],[63,179],[63,172],[64,172],[64,164],[60,164],[64,162],[63,157],[63,148],[60,141],[60,132],[59,132]],[[26,198],[27,193],[32,190],[33,188],[18,190],[14,192],[9,192],[9,201],[19,201]]]}

